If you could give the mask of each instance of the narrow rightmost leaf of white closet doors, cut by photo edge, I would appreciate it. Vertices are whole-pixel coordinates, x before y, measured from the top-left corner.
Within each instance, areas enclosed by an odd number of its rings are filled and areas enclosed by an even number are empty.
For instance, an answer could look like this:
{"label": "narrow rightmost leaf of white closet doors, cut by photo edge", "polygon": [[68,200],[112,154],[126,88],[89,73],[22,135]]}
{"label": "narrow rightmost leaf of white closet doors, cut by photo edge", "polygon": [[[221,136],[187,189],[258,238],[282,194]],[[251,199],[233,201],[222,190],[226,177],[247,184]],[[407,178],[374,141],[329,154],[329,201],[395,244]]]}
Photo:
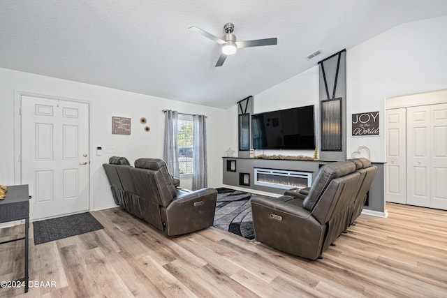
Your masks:
{"label": "narrow rightmost leaf of white closet doors, cut by photo edge", "polygon": [[431,106],[432,208],[447,210],[447,103]]}

